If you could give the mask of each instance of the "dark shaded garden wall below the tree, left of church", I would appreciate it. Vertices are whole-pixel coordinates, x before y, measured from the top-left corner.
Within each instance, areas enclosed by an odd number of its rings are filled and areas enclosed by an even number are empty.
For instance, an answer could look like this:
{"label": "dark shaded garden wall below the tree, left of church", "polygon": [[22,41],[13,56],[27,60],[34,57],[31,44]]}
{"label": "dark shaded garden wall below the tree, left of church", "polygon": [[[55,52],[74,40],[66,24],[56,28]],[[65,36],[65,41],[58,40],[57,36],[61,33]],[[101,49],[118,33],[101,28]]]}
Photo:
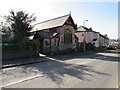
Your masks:
{"label": "dark shaded garden wall below the tree, left of church", "polygon": [[2,60],[7,59],[23,59],[36,57],[35,51],[32,51],[29,46],[23,45],[3,45]]}

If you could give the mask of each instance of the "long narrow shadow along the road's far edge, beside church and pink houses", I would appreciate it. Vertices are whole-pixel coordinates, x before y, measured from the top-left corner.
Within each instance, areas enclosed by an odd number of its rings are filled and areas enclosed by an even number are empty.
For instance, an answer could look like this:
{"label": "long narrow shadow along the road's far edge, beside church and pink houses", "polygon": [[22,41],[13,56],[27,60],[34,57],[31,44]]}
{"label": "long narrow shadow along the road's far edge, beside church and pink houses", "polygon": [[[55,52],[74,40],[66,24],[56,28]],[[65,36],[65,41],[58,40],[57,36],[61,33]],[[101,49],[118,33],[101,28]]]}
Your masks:
{"label": "long narrow shadow along the road's far edge, beside church and pink houses", "polygon": [[[102,53],[108,53],[108,54],[117,54],[115,51],[104,51]],[[87,58],[87,59],[99,59],[99,60],[104,60],[104,61],[113,61],[113,62],[120,62],[118,54],[117,57],[116,56],[107,56],[104,54],[98,54],[95,52],[89,52],[89,54],[83,54],[82,53],[71,53],[71,54],[67,54],[67,55],[63,55],[63,56],[49,56],[50,58],[54,58],[57,60],[62,60],[62,61],[66,61],[66,60],[71,60],[71,59],[77,59],[77,58]]]}

